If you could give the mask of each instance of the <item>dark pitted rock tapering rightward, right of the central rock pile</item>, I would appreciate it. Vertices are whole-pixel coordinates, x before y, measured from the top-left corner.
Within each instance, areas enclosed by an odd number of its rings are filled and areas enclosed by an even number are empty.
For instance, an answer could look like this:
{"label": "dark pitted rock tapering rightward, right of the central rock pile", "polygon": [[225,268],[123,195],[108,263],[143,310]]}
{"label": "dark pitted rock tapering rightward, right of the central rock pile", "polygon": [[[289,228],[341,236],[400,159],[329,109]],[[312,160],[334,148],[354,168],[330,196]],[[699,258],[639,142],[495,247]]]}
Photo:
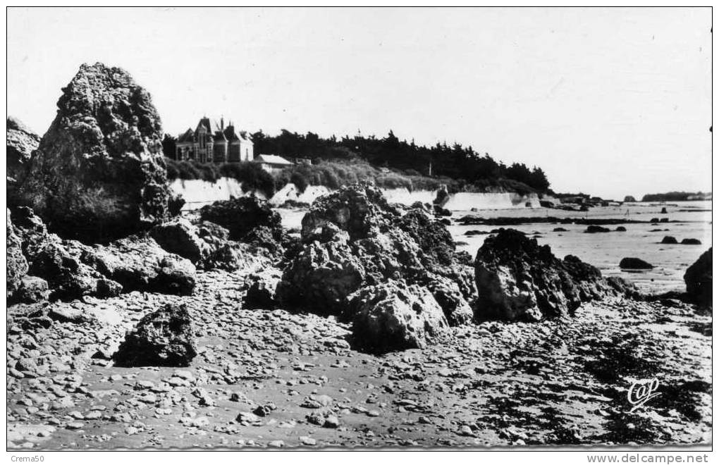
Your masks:
{"label": "dark pitted rock tapering rightward, right of the central rock pile", "polygon": [[605,280],[572,255],[560,260],[514,229],[489,236],[475,259],[477,316],[539,321],[571,314],[583,301],[623,295],[623,280]]}

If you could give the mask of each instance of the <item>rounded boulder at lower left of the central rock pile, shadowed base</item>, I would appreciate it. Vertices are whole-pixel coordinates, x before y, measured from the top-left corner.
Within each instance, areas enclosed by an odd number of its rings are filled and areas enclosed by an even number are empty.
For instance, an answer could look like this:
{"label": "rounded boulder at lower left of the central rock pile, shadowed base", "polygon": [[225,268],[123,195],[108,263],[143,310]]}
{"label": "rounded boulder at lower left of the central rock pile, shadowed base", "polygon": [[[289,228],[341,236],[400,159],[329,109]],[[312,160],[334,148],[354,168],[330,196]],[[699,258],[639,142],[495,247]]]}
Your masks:
{"label": "rounded boulder at lower left of the central rock pile, shadowed base", "polygon": [[283,272],[277,297],[288,308],[339,315],[346,298],[365,281],[365,268],[340,241],[306,245]]}

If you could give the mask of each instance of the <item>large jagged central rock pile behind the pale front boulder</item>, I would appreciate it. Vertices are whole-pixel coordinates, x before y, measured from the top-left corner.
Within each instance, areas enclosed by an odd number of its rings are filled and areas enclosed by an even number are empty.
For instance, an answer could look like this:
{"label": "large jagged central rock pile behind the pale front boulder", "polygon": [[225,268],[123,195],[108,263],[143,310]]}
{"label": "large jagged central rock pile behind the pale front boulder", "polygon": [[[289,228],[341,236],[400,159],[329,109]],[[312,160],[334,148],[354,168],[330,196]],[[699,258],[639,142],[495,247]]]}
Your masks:
{"label": "large jagged central rock pile behind the pale front boulder", "polygon": [[[472,268],[454,252],[446,226],[423,210],[402,216],[379,189],[352,185],[313,203],[301,239],[305,245],[278,285],[278,299],[289,308],[343,315],[347,297],[361,287],[406,280],[442,290],[447,312],[459,308],[452,323],[466,320],[467,300],[476,292]],[[459,293],[446,283],[433,285],[442,279],[456,282]]]}

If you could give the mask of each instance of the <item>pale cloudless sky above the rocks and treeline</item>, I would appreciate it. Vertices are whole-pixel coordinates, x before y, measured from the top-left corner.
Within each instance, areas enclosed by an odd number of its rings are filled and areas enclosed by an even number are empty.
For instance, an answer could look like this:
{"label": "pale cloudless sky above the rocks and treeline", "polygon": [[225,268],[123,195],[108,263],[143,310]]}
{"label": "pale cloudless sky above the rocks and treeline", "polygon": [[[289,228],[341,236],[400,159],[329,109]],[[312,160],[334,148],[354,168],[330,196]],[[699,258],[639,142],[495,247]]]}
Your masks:
{"label": "pale cloudless sky above the rocks and treeline", "polygon": [[165,132],[459,142],[557,192],[711,190],[711,9],[24,9],[7,111],[39,134],[82,63],[127,70]]}

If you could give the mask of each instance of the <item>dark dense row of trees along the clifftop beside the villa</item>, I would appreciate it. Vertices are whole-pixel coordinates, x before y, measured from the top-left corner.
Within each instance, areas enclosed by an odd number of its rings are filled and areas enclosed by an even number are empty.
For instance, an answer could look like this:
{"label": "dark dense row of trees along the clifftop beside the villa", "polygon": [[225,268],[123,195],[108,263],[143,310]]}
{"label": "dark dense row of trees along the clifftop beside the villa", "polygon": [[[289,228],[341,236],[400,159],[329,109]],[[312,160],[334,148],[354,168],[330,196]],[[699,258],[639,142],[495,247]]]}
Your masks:
{"label": "dark dense row of trees along the clifftop beside the villa", "polygon": [[[319,160],[365,160],[377,167],[389,167],[405,173],[458,180],[467,185],[493,185],[498,180],[515,180],[539,192],[549,189],[544,171],[529,168],[523,163],[510,166],[496,162],[490,155],[480,155],[461,144],[437,143],[426,147],[414,140],[400,140],[390,131],[386,137],[344,136],[337,139],[319,137],[313,132],[298,134],[283,129],[277,136],[269,136],[262,130],[252,134],[255,155],[274,154],[288,158]],[[173,157],[175,141],[165,136],[162,148],[165,156]]]}

